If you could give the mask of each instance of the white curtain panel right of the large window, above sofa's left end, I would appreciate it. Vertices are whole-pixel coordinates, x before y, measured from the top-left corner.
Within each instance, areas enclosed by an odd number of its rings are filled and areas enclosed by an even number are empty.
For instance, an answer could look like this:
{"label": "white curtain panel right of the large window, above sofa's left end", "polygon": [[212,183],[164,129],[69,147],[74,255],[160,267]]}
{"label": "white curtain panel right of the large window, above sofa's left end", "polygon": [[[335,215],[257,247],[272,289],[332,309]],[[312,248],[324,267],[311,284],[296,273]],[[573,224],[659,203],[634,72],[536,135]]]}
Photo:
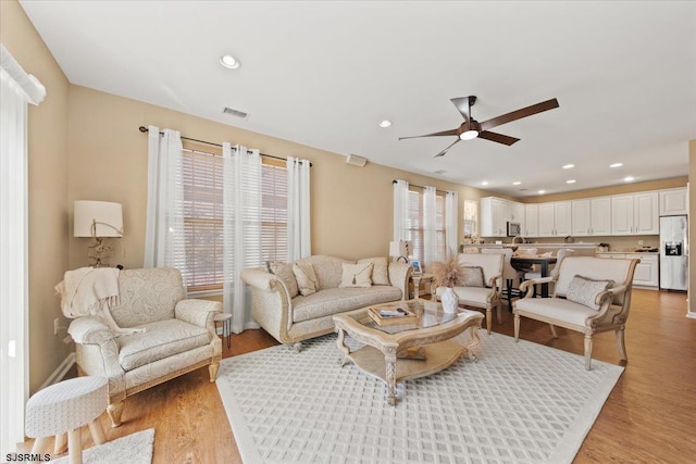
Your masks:
{"label": "white curtain panel right of the large window, above sofa's left end", "polygon": [[309,208],[309,161],[287,159],[287,261],[312,254]]}

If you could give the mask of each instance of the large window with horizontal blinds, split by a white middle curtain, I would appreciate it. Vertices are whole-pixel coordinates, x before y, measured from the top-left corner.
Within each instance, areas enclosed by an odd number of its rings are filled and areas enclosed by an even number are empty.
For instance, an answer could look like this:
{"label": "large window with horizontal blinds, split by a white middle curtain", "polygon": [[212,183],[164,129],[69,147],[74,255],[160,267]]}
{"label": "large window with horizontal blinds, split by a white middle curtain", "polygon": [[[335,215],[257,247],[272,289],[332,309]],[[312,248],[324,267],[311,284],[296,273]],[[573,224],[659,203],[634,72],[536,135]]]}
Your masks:
{"label": "large window with horizontal blinds, split by a white middle curtain", "polygon": [[[287,170],[264,159],[262,166],[261,260],[287,259]],[[268,164],[266,164],[268,163]],[[223,283],[223,160],[184,149],[185,285],[189,291],[222,289]]]}

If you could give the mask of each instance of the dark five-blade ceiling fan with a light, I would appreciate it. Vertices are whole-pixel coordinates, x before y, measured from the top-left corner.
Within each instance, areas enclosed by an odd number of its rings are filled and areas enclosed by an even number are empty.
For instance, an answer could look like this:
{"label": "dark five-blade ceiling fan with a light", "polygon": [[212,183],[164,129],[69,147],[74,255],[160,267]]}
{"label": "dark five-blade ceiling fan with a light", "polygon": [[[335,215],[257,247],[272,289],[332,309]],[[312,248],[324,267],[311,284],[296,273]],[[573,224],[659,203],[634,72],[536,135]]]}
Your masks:
{"label": "dark five-blade ceiling fan with a light", "polygon": [[464,122],[461,124],[461,126],[457,127],[456,129],[426,134],[424,136],[399,137],[399,140],[413,139],[419,137],[440,137],[440,136],[458,137],[457,140],[455,140],[449,147],[447,147],[446,149],[437,153],[435,158],[443,156],[445,153],[447,153],[447,150],[452,148],[456,143],[459,143],[461,140],[471,140],[471,139],[475,139],[476,137],[495,141],[498,143],[511,146],[515,141],[520,141],[520,139],[515,137],[498,134],[498,133],[492,133],[488,129],[492,129],[496,126],[500,126],[502,124],[510,123],[512,121],[521,120],[523,117],[532,116],[534,114],[558,108],[558,100],[554,98],[551,100],[546,100],[540,103],[536,103],[531,106],[523,108],[521,110],[512,111],[510,113],[506,113],[498,117],[494,117],[492,120],[480,123],[471,116],[471,106],[473,106],[474,103],[476,102],[475,96],[452,98],[450,101],[455,104],[455,106],[457,106],[457,110],[459,110],[461,115],[464,117]]}

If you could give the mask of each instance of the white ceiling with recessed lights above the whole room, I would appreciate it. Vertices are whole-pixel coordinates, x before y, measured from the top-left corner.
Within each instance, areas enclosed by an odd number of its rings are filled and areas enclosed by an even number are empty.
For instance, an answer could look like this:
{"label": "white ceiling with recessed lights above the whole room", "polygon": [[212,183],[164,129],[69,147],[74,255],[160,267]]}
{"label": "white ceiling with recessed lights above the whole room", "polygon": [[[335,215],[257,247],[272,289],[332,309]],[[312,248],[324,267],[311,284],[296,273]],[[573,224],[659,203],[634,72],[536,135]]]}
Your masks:
{"label": "white ceiling with recessed lights above the whole room", "polygon": [[[513,197],[688,173],[696,2],[21,4],[73,84],[371,162]],[[224,53],[241,66],[222,68]],[[496,127],[511,147],[434,159],[455,137],[398,140],[458,127],[449,99],[469,95],[480,122],[560,108]]]}

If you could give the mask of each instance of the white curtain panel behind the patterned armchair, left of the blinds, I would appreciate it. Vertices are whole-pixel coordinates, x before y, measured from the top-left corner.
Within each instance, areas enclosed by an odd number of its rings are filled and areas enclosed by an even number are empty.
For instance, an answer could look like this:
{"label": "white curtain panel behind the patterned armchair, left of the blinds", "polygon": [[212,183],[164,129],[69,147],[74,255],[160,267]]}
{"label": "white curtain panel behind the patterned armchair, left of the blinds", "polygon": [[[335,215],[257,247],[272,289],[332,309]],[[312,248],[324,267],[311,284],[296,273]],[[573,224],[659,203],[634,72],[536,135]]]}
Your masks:
{"label": "white curtain panel behind the patterned armchair, left of the blinds", "polygon": [[176,267],[186,283],[183,153],[178,131],[149,127],[144,267]]}

